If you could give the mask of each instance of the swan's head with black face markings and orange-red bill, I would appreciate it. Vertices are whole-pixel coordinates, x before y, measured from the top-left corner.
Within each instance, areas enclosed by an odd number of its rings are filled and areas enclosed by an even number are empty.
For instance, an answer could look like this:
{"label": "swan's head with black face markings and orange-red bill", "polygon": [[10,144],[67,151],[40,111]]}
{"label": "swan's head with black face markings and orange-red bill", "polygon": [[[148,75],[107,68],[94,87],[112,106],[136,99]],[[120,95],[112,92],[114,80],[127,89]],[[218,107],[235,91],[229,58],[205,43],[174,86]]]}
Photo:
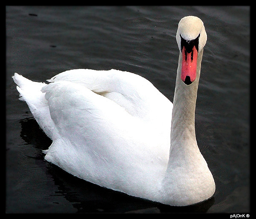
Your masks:
{"label": "swan's head with black face markings and orange-red bill", "polygon": [[203,21],[195,16],[180,20],[176,40],[182,54],[181,80],[190,85],[196,79],[198,53],[207,41]]}

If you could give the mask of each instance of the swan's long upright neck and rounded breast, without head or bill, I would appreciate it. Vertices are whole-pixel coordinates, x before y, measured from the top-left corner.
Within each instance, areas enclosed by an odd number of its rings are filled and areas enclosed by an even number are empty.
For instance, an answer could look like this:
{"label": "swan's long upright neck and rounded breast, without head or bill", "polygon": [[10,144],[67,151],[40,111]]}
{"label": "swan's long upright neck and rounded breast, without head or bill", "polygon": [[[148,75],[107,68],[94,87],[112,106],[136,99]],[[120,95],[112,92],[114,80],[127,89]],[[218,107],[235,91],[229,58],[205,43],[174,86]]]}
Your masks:
{"label": "swan's long upright neck and rounded breast, without head or bill", "polygon": [[196,80],[186,85],[180,78],[181,54],[177,69],[172,111],[171,148],[162,181],[163,203],[190,205],[208,199],[215,183],[195,138],[195,102],[203,50],[198,53]]}

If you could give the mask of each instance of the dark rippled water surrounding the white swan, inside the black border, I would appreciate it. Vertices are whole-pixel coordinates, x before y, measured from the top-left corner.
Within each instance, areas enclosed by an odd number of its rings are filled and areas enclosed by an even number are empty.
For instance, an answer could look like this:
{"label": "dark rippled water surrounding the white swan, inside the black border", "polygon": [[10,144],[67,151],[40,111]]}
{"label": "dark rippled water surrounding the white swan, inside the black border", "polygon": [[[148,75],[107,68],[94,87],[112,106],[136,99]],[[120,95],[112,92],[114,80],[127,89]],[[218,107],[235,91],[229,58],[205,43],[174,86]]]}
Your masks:
{"label": "dark rippled water surrounding the white swan, inside the black border", "polygon": [[[6,7],[6,212],[250,212],[249,7]],[[196,108],[212,199],[170,207],[111,191],[46,162],[51,141],[11,76],[45,81],[74,68],[130,71],[173,101],[177,24],[204,21],[208,35]]]}

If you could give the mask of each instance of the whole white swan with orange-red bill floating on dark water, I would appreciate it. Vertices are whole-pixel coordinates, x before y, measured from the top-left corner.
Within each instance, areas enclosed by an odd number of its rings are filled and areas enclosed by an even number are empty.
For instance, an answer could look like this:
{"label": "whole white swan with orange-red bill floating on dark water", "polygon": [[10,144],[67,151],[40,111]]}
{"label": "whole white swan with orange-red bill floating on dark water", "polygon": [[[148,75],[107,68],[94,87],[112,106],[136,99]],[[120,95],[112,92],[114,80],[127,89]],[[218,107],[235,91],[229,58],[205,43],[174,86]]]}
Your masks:
{"label": "whole white swan with orange-red bill floating on dark water", "polygon": [[43,82],[15,73],[20,100],[52,139],[45,159],[88,182],[166,205],[209,199],[215,182],[195,137],[203,48],[198,17],[177,28],[174,102],[125,71],[74,69]]}

